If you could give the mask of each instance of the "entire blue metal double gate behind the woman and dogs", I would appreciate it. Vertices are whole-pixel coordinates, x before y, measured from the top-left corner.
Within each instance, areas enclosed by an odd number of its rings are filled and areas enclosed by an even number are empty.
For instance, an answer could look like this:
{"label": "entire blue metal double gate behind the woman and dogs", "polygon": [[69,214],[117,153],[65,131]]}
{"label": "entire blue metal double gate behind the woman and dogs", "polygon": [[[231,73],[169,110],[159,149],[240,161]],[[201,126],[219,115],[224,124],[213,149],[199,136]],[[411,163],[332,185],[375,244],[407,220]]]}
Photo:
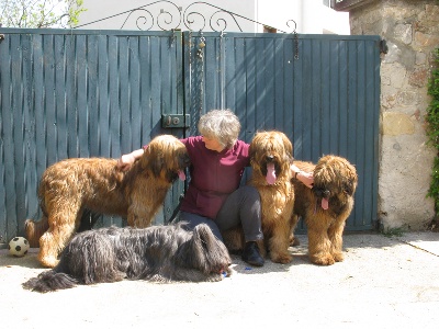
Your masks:
{"label": "entire blue metal double gate behind the woman and dogs", "polygon": [[[117,158],[158,134],[195,135],[199,116],[222,107],[237,113],[244,140],[275,128],[293,140],[296,159],[347,157],[360,179],[347,230],[373,227],[378,36],[15,29],[0,34],[0,242],[23,235],[26,218],[40,218],[36,189],[49,164]],[[189,121],[164,128],[162,116],[184,114]],[[182,191],[181,183],[172,188],[156,223],[167,223]]]}

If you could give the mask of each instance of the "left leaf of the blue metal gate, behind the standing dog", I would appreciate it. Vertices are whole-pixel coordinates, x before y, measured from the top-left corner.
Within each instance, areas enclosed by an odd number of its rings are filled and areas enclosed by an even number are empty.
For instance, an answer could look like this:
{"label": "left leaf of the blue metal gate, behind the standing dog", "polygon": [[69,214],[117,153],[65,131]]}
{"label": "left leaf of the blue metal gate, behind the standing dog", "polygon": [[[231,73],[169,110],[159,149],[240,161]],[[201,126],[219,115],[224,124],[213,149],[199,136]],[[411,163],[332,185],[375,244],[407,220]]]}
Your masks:
{"label": "left leaf of the blue metal gate, behind the standing dog", "polygon": [[[183,113],[181,34],[0,29],[0,242],[40,218],[36,190],[52,163],[140,148]],[[168,193],[156,223],[183,191]],[[103,224],[122,225],[121,218]],[[98,223],[99,225],[99,223]]]}

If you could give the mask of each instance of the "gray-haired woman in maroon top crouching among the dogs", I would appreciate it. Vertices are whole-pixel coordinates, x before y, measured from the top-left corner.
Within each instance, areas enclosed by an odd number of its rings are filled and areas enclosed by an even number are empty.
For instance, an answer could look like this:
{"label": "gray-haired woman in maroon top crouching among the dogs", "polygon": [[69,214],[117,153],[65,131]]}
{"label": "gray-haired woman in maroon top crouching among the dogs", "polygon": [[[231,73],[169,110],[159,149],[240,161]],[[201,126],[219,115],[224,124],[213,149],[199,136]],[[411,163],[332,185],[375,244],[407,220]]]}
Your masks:
{"label": "gray-haired woman in maroon top crouching among the dogs", "polygon": [[[221,231],[241,224],[246,245],[243,260],[255,266],[263,265],[257,241],[263,238],[261,203],[258,191],[239,183],[250,166],[249,144],[239,140],[240,123],[230,110],[212,110],[202,115],[198,125],[201,136],[181,139],[191,159],[188,191],[180,207],[180,219],[190,228],[204,223],[222,240]],[[138,149],[119,160],[126,170],[143,155]],[[312,186],[313,174],[292,166],[305,185]]]}

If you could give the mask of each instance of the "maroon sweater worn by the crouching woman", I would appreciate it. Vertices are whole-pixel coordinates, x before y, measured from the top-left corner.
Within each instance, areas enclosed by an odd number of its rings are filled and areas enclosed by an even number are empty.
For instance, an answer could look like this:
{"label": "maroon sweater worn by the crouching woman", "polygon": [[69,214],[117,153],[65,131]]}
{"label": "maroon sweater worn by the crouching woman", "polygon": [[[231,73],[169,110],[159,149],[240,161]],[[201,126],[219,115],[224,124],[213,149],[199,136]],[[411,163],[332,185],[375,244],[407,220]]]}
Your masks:
{"label": "maroon sweater worn by the crouching woman", "polygon": [[221,152],[205,147],[202,137],[181,139],[191,159],[191,181],[181,211],[215,218],[227,195],[238,189],[249,166],[249,145],[243,140]]}

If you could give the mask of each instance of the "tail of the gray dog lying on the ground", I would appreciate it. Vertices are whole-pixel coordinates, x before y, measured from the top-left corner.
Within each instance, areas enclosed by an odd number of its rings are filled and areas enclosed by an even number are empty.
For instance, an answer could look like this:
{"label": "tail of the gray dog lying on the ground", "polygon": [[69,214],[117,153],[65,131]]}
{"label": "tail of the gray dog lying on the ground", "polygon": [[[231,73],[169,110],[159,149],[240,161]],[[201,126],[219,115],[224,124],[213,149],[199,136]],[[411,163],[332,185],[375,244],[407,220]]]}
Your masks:
{"label": "tail of the gray dog lying on the ground", "polygon": [[54,270],[49,270],[40,273],[38,276],[30,279],[27,282],[23,283],[25,290],[30,290],[38,293],[55,292],[58,290],[67,290],[76,286],[78,281],[66,274],[58,273]]}

